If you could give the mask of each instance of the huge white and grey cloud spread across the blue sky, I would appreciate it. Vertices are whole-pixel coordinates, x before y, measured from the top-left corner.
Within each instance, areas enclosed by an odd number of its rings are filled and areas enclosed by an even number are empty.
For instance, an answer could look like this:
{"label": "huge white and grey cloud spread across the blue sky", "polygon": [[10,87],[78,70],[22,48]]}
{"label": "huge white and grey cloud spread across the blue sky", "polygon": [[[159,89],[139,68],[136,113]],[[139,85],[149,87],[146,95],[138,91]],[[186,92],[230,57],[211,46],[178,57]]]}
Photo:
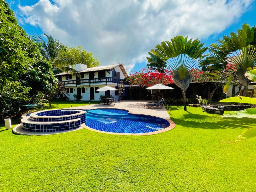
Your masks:
{"label": "huge white and grey cloud spread across the blue sky", "polygon": [[25,23],[69,46],[100,56],[100,65],[122,62],[130,71],[147,52],[176,35],[207,38],[230,26],[252,0],[40,0],[19,6]]}

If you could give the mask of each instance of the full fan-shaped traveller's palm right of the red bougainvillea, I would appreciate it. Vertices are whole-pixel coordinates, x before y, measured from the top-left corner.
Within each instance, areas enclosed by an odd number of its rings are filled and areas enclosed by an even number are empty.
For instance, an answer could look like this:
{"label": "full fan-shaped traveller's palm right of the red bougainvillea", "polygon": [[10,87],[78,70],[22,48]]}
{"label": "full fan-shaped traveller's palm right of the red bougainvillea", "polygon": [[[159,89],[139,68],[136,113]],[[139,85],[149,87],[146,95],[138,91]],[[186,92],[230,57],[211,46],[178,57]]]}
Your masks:
{"label": "full fan-shaped traveller's palm right of the red bougainvillea", "polygon": [[[176,36],[151,49],[155,56],[166,62],[165,68],[172,74],[174,83],[182,90],[185,111],[187,110],[186,90],[193,77],[200,71],[199,61],[207,56],[203,54],[208,47],[204,47],[205,44],[200,42],[198,39],[188,40],[188,37]],[[155,66],[156,63],[153,65]]]}

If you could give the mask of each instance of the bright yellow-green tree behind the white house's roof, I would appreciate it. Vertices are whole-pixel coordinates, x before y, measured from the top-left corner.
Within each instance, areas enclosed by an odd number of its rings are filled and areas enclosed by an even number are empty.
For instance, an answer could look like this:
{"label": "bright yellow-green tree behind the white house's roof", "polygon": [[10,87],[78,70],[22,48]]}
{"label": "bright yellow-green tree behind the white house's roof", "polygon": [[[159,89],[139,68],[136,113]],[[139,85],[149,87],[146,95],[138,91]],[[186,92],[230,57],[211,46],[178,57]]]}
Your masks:
{"label": "bright yellow-green tree behind the white house's roof", "polygon": [[76,63],[82,63],[87,67],[97,67],[100,62],[98,56],[83,50],[81,46],[68,48],[66,51],[67,57],[74,58]]}

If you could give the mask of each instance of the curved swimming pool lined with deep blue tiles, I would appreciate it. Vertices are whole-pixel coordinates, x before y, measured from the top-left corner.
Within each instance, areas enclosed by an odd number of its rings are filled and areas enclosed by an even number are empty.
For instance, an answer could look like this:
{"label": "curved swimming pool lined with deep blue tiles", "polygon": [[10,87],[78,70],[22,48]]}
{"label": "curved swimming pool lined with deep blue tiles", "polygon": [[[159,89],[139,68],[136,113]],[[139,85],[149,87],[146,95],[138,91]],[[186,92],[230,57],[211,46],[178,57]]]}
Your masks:
{"label": "curved swimming pool lined with deep blue tiles", "polygon": [[170,126],[169,121],[150,115],[131,114],[122,109],[92,109],[87,112],[86,126],[110,133],[151,133]]}

